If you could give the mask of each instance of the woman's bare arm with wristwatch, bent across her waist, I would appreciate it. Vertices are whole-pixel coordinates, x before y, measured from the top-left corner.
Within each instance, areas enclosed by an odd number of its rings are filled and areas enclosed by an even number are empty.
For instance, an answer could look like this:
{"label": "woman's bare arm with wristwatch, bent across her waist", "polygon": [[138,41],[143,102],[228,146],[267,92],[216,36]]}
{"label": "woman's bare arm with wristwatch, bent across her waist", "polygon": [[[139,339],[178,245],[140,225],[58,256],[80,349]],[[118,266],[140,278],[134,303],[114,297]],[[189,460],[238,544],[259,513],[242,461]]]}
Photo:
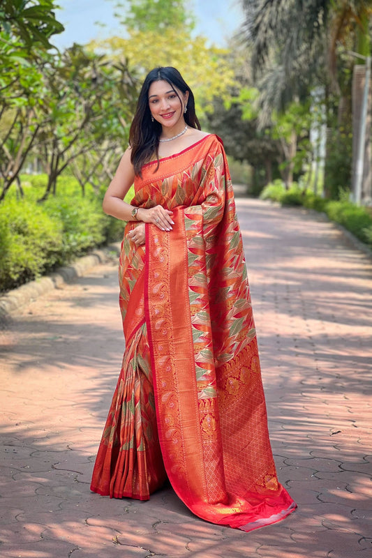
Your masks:
{"label": "woman's bare arm with wristwatch, bent across her waist", "polygon": [[169,231],[174,225],[171,215],[172,211],[164,209],[161,205],[144,209],[140,207],[137,211],[135,218],[132,216],[132,211],[135,206],[124,202],[124,197],[131,188],[134,181],[135,173],[131,163],[131,148],[125,151],[121,157],[117,172],[107,188],[105,197],[103,198],[103,211],[107,215],[112,215],[117,219],[123,221],[143,221],[144,223],[154,223],[159,229]]}

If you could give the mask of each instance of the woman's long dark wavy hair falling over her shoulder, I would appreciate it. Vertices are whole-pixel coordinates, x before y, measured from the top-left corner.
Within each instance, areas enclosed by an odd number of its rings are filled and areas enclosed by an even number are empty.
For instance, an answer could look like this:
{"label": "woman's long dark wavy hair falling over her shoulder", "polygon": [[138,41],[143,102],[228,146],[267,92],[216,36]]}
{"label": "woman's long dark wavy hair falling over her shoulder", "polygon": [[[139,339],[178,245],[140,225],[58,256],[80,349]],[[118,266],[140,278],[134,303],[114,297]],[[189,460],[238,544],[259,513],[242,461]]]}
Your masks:
{"label": "woman's long dark wavy hair falling over her shoulder", "polygon": [[[151,158],[156,155],[159,166],[159,137],[161,135],[161,124],[158,121],[151,121],[151,112],[149,107],[149,89],[151,83],[164,80],[168,82],[173,89],[177,87],[182,93],[188,91],[187,112],[184,114],[185,122],[191,128],[198,128],[200,130],[200,122],[195,114],[195,100],[193,92],[184,81],[176,68],[166,66],[165,68],[154,68],[149,72],[143,82],[140,96],[137,101],[137,110],[129,130],[129,144],[131,146],[131,161],[135,170],[135,174],[141,176],[141,169],[145,163],[148,163]],[[179,94],[175,90],[181,105]],[[158,166],[155,169],[158,169]]]}

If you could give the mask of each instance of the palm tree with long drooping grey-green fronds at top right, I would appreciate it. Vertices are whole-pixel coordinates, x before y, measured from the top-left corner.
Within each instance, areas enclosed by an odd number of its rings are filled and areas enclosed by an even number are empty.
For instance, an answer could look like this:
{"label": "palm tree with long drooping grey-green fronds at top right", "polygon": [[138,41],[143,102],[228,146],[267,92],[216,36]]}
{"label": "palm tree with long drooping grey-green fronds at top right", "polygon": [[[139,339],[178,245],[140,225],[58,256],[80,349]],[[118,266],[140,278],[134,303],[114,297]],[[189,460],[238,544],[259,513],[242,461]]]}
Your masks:
{"label": "palm tree with long drooping grey-green fronds at top right", "polygon": [[[348,74],[344,70],[357,64],[349,51],[370,54],[372,0],[241,3],[246,14],[242,34],[253,50],[253,70],[262,93],[262,118],[268,119],[271,110],[283,110],[290,100],[301,99],[320,85],[327,107],[338,107],[338,129],[345,128],[351,122],[351,81],[345,79]],[[332,103],[332,97],[336,97],[336,103]],[[364,195],[368,197],[371,186],[366,189]]]}

